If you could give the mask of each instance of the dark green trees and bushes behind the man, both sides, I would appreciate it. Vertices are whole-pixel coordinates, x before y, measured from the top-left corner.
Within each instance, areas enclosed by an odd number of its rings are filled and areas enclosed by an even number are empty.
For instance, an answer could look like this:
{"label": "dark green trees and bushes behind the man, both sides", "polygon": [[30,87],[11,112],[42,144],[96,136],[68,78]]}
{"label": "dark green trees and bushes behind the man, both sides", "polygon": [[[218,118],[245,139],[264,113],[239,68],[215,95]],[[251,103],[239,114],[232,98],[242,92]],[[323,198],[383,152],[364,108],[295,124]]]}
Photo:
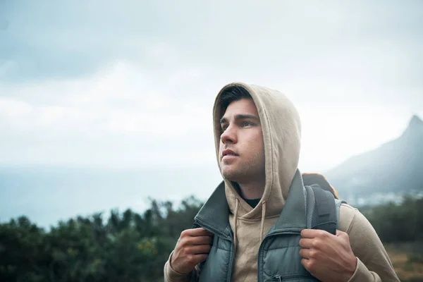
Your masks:
{"label": "dark green trees and bushes behind the man, both sides", "polygon": [[[163,281],[180,233],[202,202],[150,200],[137,214],[111,210],[61,221],[49,231],[25,216],[0,224],[0,281]],[[384,243],[423,239],[423,199],[363,210]]]}

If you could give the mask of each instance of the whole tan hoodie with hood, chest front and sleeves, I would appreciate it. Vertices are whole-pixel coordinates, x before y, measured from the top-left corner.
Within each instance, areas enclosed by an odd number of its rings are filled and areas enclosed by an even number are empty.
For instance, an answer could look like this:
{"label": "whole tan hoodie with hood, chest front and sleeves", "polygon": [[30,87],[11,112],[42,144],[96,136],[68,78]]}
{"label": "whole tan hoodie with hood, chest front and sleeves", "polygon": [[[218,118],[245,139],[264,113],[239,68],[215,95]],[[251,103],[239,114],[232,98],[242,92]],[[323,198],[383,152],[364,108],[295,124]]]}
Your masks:
{"label": "whole tan hoodie with hood, chest front and sleeves", "polygon": [[[257,281],[259,245],[281,214],[290,184],[298,170],[301,123],[295,106],[281,92],[239,82],[226,85],[217,95],[214,104],[214,137],[218,163],[221,135],[219,120],[222,116],[218,102],[221,94],[233,86],[244,87],[252,96],[264,137],[266,184],[259,204],[254,209],[250,207],[232,183],[223,179],[235,243],[232,281],[249,282]],[[350,236],[358,262],[350,282],[399,281],[384,246],[367,219],[357,209],[342,204],[339,221],[339,229]],[[165,264],[164,274],[165,281],[168,282],[186,281],[187,278],[173,271],[169,261]]]}

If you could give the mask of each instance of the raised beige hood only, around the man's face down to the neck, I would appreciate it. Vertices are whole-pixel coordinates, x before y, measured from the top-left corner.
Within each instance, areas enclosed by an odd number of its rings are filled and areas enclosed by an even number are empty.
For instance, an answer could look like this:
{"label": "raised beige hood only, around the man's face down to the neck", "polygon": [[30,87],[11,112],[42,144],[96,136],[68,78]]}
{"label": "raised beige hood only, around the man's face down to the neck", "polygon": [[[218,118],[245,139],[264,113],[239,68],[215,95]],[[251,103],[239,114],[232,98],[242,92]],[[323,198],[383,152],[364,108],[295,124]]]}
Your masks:
{"label": "raised beige hood only, around the man's face down to the neck", "polygon": [[264,135],[266,186],[262,200],[255,209],[252,209],[240,197],[231,182],[224,179],[229,208],[234,211],[235,202],[238,199],[240,204],[239,217],[260,219],[262,217],[262,203],[266,202],[265,217],[279,215],[298,167],[301,136],[300,116],[293,103],[284,94],[276,90],[257,85],[247,85],[242,82],[234,82],[224,86],[216,97],[213,109],[216,158],[219,168],[221,134],[219,98],[225,90],[233,86],[244,87],[250,93],[257,107]]}

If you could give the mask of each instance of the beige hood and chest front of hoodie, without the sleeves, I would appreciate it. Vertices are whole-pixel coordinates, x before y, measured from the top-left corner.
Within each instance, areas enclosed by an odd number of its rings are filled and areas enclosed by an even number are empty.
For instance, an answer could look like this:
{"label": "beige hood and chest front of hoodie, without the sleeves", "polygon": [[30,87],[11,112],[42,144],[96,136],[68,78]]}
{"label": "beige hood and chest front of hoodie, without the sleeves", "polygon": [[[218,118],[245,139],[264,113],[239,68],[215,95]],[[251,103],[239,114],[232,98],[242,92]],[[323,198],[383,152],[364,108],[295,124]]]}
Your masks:
{"label": "beige hood and chest front of hoodie, without the sleeves", "polygon": [[221,108],[219,99],[228,88],[240,86],[247,90],[259,114],[264,137],[266,184],[259,204],[252,207],[243,200],[231,181],[225,182],[229,206],[229,223],[233,231],[235,262],[232,281],[257,281],[257,254],[264,235],[276,223],[288,197],[290,184],[297,172],[300,156],[301,125],[298,111],[281,93],[266,87],[231,83],[222,88],[213,109],[216,158],[219,163]]}

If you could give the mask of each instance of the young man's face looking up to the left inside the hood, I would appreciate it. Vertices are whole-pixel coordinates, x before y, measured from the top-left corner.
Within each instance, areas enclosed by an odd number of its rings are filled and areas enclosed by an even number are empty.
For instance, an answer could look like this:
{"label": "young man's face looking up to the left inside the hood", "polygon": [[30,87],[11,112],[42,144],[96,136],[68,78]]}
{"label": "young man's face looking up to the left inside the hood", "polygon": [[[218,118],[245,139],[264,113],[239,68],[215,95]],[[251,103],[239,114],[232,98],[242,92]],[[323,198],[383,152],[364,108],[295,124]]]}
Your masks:
{"label": "young man's face looking up to the left inside the hood", "polygon": [[264,180],[262,125],[252,99],[229,104],[221,128],[219,161],[223,176],[237,183]]}

